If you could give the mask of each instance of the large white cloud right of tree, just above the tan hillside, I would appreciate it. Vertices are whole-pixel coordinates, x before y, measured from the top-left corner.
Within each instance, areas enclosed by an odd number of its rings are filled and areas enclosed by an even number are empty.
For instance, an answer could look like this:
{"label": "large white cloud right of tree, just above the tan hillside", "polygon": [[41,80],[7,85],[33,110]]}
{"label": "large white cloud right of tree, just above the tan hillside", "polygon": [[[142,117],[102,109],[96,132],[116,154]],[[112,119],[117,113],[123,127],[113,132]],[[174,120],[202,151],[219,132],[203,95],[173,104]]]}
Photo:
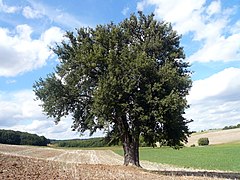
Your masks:
{"label": "large white cloud right of tree, just above the tan hillside", "polygon": [[187,97],[191,107],[186,112],[186,117],[194,120],[190,128],[203,130],[239,123],[239,77],[239,68],[227,68],[193,82]]}

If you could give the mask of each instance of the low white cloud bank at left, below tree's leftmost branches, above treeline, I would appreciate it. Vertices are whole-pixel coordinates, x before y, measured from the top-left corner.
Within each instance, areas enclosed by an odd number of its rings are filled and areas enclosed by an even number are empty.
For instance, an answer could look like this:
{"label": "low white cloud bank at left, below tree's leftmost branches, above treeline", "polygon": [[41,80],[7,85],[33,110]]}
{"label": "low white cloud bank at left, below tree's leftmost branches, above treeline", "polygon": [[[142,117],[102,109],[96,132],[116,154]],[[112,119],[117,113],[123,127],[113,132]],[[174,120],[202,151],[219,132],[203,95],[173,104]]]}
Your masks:
{"label": "low white cloud bank at left, below tree's leftmost branches, above treeline", "polygon": [[[80,133],[72,131],[72,118],[63,118],[57,125],[52,118],[47,118],[35,101],[32,90],[16,92],[0,91],[0,129],[12,129],[43,135],[51,139],[79,138]],[[88,132],[81,138],[87,138]],[[97,131],[93,137],[103,136]]]}

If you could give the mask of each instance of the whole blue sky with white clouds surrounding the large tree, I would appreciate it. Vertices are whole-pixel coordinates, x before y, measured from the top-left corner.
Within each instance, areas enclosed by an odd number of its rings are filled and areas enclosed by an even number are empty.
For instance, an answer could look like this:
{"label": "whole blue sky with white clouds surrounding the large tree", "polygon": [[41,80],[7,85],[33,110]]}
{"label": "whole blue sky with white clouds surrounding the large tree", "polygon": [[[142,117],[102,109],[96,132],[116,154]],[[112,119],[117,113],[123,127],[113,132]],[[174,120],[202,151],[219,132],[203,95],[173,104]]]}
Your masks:
{"label": "whole blue sky with white clouds surrounding the large tree", "polygon": [[0,0],[0,129],[79,138],[71,117],[55,125],[35,100],[33,83],[58,63],[49,47],[66,31],[119,23],[139,10],[182,35],[193,71],[185,114],[194,120],[190,130],[239,124],[240,0]]}

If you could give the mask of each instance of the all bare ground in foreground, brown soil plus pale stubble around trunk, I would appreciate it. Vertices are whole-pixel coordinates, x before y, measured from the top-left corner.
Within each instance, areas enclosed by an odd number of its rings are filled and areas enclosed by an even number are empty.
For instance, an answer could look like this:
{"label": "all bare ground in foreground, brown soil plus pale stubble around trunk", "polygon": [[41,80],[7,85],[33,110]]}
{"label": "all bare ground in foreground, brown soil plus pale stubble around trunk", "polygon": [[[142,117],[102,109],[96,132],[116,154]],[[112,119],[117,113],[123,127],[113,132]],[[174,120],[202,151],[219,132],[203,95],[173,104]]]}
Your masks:
{"label": "all bare ground in foreground, brown soil plus pale stubble around trunk", "polygon": [[147,161],[141,162],[143,169],[126,167],[122,163],[123,158],[110,150],[0,144],[0,179],[217,179],[193,176],[197,170]]}

